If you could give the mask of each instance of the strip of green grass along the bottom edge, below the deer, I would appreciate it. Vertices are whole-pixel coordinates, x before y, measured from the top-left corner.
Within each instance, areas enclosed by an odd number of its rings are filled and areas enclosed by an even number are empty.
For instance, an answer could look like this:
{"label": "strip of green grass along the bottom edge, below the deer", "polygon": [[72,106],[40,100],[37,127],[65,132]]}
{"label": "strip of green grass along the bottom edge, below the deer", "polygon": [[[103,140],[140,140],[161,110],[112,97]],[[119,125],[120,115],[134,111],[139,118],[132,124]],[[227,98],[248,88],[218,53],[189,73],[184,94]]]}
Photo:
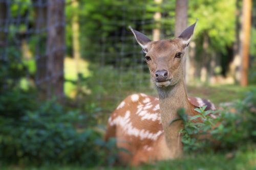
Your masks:
{"label": "strip of green grass along the bottom edge, below the deer", "polygon": [[[252,146],[251,146],[252,148]],[[200,155],[189,155],[185,156],[182,159],[176,160],[168,160],[168,161],[160,161],[156,164],[145,164],[140,167],[122,167],[122,166],[115,166],[115,167],[103,167],[103,166],[96,166],[96,167],[83,167],[83,166],[76,166],[76,165],[42,165],[40,167],[18,167],[18,166],[4,166],[0,164],[0,169],[2,170],[19,170],[19,169],[33,169],[33,170],[80,170],[80,169],[191,169],[191,170],[224,170],[224,169],[232,169],[232,170],[255,170],[256,169],[256,150],[254,149],[247,149],[246,151],[238,151],[235,153],[228,153],[228,154],[200,154]]]}

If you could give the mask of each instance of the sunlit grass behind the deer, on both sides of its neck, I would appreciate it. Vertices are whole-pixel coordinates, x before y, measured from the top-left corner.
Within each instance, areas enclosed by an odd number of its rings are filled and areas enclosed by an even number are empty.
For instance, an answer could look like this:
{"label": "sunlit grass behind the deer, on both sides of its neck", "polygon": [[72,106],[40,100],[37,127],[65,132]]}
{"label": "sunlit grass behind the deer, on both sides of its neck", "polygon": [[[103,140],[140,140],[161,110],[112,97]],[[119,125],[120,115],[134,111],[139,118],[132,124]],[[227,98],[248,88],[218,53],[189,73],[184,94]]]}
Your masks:
{"label": "sunlit grass behind the deer, on both sides of its neck", "polygon": [[[250,85],[247,87],[241,87],[239,85],[187,86],[189,96],[196,96],[200,98],[209,99],[217,107],[220,105],[220,103],[244,99],[246,96],[246,92],[252,89],[256,89],[256,85]],[[129,91],[129,89],[124,89],[121,94],[116,96],[116,98],[114,98],[115,93],[113,93],[112,95],[108,94],[107,98],[110,98],[111,96],[113,96],[113,98],[98,101],[99,106],[104,108],[104,114],[110,114],[118,106],[118,104],[125,98],[125,96],[136,92],[127,91]],[[157,92],[153,88],[142,89],[142,91],[137,92],[143,92],[145,94],[157,97]],[[104,99],[104,96],[102,96],[102,99]]]}

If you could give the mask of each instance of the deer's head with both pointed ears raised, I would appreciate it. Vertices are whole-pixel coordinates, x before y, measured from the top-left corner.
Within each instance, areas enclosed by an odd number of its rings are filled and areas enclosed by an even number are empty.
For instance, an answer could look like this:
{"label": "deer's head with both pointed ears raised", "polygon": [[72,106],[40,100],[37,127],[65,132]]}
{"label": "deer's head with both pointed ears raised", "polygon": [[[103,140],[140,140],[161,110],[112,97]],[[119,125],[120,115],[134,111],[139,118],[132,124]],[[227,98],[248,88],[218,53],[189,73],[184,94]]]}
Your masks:
{"label": "deer's head with both pointed ears raised", "polygon": [[142,51],[146,54],[145,61],[157,87],[173,86],[183,79],[182,60],[184,60],[185,48],[194,33],[196,23],[189,26],[175,39],[159,41],[151,41],[147,36],[130,27]]}

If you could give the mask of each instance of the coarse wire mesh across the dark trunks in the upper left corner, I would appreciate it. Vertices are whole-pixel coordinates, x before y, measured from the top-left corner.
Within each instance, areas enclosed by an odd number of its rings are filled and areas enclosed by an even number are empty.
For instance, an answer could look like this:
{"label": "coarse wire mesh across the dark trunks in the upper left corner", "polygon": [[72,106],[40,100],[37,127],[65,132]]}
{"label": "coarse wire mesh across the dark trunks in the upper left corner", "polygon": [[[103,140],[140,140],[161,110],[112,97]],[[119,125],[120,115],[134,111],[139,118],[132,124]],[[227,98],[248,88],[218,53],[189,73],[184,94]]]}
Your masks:
{"label": "coarse wire mesh across the dark trunks in the upper left corner", "polygon": [[[64,1],[0,1],[3,84],[63,96]],[[12,75],[10,75],[12,74]]]}

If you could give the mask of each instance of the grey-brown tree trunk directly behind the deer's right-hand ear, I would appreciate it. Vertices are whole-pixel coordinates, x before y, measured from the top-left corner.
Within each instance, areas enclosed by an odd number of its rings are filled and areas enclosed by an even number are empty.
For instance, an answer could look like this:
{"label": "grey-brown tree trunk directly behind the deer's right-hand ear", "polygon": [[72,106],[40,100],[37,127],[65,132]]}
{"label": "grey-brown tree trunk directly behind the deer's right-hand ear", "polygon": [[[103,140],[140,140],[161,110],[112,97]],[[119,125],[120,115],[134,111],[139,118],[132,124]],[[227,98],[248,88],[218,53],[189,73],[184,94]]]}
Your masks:
{"label": "grey-brown tree trunk directly behind the deer's right-hand ear", "polygon": [[[175,7],[175,37],[178,37],[182,31],[187,28],[187,9],[188,9],[188,1],[187,0],[176,0],[176,7]],[[184,67],[183,67],[183,74],[184,80],[186,82],[186,65],[189,65],[189,60],[186,60],[188,57],[187,53],[184,56]]]}

